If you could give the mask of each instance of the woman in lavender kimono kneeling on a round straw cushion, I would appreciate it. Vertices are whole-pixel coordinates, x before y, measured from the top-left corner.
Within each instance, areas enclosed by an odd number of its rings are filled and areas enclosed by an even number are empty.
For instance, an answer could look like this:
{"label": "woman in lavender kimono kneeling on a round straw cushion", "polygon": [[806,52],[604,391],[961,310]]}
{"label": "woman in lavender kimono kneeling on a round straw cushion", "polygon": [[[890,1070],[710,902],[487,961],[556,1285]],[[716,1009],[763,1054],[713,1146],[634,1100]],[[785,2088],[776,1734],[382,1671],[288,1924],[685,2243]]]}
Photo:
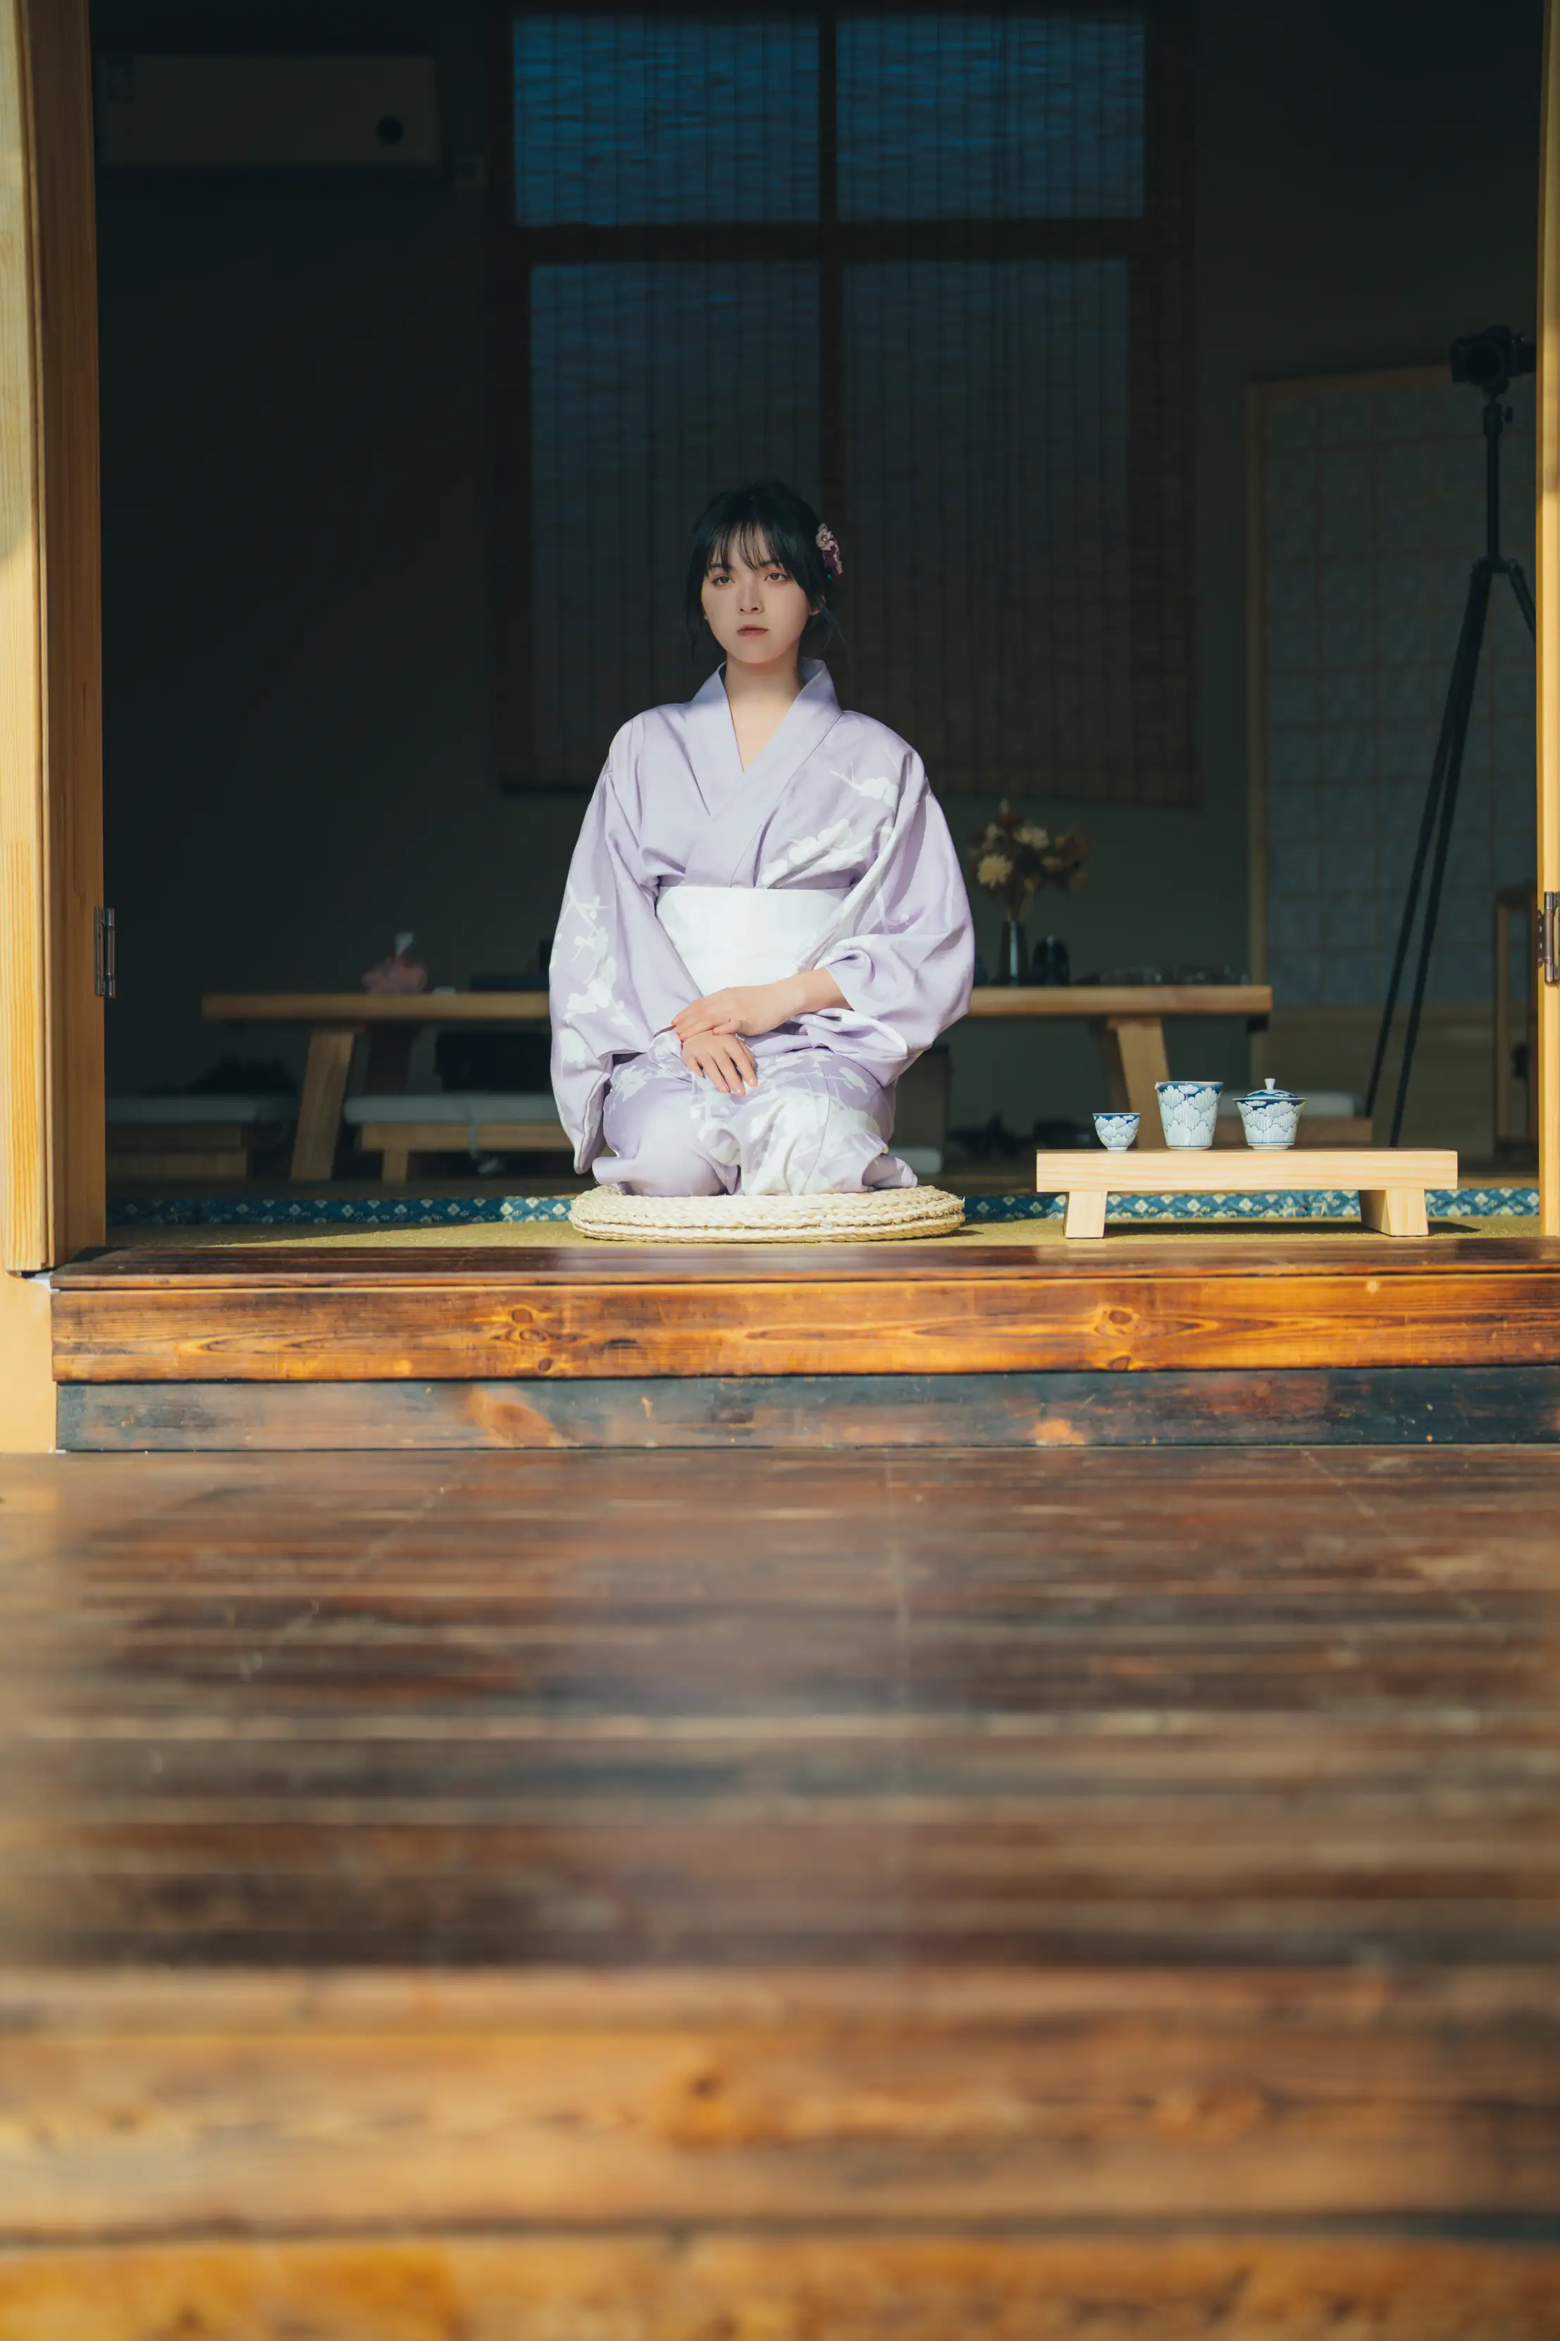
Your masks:
{"label": "woman in lavender kimono kneeling on a round straw cushion", "polygon": [[718,496],[685,616],[725,653],[613,740],[552,946],[552,1086],[629,1194],[914,1187],[893,1084],[971,997],[971,913],[921,758],[802,655],[840,550],[779,480]]}

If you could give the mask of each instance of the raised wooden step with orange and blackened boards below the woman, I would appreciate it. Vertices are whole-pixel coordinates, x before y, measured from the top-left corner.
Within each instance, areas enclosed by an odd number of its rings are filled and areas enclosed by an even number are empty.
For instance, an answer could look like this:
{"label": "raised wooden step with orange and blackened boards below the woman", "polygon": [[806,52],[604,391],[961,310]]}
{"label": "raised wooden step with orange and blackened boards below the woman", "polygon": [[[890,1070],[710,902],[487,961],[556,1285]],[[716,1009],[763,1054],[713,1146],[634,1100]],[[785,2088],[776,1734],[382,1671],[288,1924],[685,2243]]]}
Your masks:
{"label": "raised wooden step with orange and blackened boards below the woman", "polygon": [[54,1288],[80,1449],[1560,1435],[1539,1236],[168,1241]]}

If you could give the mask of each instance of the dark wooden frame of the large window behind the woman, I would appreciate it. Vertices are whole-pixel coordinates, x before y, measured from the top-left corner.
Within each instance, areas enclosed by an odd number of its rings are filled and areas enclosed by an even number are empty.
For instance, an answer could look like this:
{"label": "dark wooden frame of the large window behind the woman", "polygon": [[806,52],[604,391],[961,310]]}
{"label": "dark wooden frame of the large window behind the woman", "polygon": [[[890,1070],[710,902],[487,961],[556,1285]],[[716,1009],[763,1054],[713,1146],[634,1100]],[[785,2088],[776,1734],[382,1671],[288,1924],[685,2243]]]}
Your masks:
{"label": "dark wooden frame of the large window behind the woman", "polygon": [[[943,0],[945,9],[947,0]],[[1146,155],[1141,218],[1111,220],[840,220],[835,152],[835,54],[844,14],[938,14],[931,0],[795,9],[819,23],[819,218],[807,222],[685,222],[629,227],[526,227],[517,222],[512,26],[519,14],[559,7],[501,7],[491,49],[489,173],[489,410],[493,438],[493,665],[496,763],[505,794],[587,789],[599,756],[578,770],[538,770],[533,742],[533,555],[531,555],[531,272],[580,260],[786,260],[819,267],[819,508],[849,543],[851,501],[844,464],[844,272],[861,260],[903,258],[1081,258],[1120,253],[1130,265],[1130,639],[1132,749],[1099,782],[1071,787],[1034,775],[1045,796],[1095,803],[1195,805],[1190,447],[1186,407],[1186,164],[1188,30],[1186,0],[1137,0],[1146,23]],[[580,12],[620,14],[622,0],[585,0]],[[982,0],[982,14],[1113,14],[1097,0]],[[571,9],[573,14],[573,9]],[[678,0],[678,14],[730,14],[730,0]],[[667,583],[676,590],[676,581]],[[849,660],[840,667],[849,702]],[[695,681],[690,681],[690,691]],[[603,742],[606,744],[606,742]],[[947,796],[992,794],[987,766],[943,758],[933,782]],[[996,787],[1008,787],[999,775]],[[1034,784],[1034,782],[1031,782]]]}

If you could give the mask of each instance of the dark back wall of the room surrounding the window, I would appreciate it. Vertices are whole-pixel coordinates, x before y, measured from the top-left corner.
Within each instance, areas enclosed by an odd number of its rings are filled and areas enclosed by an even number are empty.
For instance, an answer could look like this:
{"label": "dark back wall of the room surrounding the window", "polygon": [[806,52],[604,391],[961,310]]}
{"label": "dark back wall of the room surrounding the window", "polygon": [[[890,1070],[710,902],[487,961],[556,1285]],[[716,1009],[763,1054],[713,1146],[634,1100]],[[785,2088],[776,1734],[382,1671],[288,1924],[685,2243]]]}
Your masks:
{"label": "dark back wall of the room surrounding the window", "polygon": [[[489,140],[472,0],[101,0],[101,47],[433,47]],[[1532,323],[1541,0],[1197,0],[1197,810],[1088,808],[1078,967],[1247,957],[1244,389]],[[524,964],[580,805],[493,787],[482,197],[101,194],[110,1082],[187,1079],[208,988]],[[1074,808],[1034,805],[1062,819]],[[957,801],[957,833],[985,805]],[[996,915],[978,911],[992,943]],[[246,1051],[281,1046],[250,1035]],[[1240,1079],[1240,1030],[1179,1039]],[[1195,1065],[1188,1058],[1195,1056]],[[957,1114],[1099,1103],[1083,1032],[957,1039]]]}

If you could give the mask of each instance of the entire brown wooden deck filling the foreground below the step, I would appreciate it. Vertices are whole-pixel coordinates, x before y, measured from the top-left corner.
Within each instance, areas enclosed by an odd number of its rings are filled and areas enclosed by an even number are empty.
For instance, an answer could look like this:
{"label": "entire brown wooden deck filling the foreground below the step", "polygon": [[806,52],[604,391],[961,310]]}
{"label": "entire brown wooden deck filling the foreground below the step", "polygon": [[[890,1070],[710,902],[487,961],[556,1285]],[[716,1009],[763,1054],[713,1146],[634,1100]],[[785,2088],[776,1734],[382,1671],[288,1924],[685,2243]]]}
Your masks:
{"label": "entire brown wooden deck filling the foreground below the step", "polygon": [[5,2341],[1560,2329],[1553,1451],[0,1496]]}

